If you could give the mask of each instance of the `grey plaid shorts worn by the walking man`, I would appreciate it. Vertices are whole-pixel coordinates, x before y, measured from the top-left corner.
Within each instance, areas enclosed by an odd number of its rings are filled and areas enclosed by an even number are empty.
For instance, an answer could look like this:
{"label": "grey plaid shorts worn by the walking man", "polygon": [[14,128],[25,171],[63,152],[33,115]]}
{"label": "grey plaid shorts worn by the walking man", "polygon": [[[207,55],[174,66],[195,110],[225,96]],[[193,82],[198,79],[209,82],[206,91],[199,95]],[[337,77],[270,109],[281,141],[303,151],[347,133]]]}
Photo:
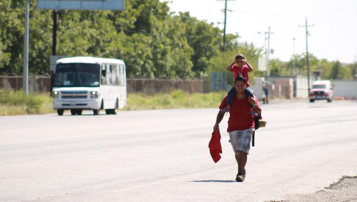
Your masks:
{"label": "grey plaid shorts worn by the walking man", "polygon": [[228,132],[229,142],[231,143],[235,154],[238,154],[239,151],[249,154],[250,141],[252,139],[253,132],[253,128]]}

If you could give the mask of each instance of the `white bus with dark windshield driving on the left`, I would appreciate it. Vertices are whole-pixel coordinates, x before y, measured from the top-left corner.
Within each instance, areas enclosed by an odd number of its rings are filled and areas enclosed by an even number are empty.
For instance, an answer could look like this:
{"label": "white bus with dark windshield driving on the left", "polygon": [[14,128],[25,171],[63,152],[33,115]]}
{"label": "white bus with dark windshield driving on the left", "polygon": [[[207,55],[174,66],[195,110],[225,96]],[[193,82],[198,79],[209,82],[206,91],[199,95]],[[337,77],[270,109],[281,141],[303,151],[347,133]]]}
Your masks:
{"label": "white bus with dark windshield driving on the left", "polygon": [[125,63],[120,59],[98,57],[67,57],[58,59],[53,78],[53,109],[58,115],[71,110],[105,110],[116,114],[126,106],[127,88]]}

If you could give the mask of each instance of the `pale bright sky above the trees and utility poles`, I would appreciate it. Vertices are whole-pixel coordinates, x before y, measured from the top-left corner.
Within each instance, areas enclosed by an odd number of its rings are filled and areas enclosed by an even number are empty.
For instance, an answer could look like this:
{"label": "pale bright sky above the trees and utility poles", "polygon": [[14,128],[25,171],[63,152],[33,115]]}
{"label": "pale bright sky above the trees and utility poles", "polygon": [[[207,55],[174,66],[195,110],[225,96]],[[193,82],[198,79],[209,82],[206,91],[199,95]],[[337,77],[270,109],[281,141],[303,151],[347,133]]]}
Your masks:
{"label": "pale bright sky above the trees and utility poles", "polygon": [[[171,12],[213,23],[223,30],[224,0],[160,0]],[[270,58],[289,61],[293,53],[308,52],[319,59],[353,63],[357,60],[356,0],[228,0],[226,33],[238,33],[239,42],[264,47],[270,31]],[[258,32],[261,32],[259,34]],[[295,38],[295,41],[293,40]]]}

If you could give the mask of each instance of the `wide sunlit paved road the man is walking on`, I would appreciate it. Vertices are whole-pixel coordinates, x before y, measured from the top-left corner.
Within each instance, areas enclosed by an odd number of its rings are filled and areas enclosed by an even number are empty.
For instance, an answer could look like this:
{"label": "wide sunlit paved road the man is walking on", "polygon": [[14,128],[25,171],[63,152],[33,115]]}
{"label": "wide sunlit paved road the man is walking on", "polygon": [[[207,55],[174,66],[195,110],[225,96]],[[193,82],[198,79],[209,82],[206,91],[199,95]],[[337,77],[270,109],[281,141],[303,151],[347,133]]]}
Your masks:
{"label": "wide sunlit paved road the man is walking on", "polygon": [[[0,117],[0,201],[262,201],[357,174],[357,103],[263,107],[244,183],[217,109]],[[88,112],[90,114],[91,112]]]}

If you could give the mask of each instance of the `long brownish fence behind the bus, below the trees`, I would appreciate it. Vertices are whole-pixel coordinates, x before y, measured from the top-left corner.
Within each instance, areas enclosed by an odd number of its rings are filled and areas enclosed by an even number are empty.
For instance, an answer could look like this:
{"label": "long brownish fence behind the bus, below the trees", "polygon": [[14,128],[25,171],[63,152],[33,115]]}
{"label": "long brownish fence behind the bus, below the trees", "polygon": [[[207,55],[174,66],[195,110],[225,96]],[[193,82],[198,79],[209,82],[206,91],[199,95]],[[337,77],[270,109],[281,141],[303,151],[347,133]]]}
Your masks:
{"label": "long brownish fence behind the bus, below the trees", "polygon": [[[0,89],[22,90],[23,76],[0,76]],[[50,76],[29,76],[29,92],[49,92]],[[145,94],[167,93],[181,89],[188,93],[207,93],[210,91],[208,82],[202,79],[146,79],[127,78],[127,92]]]}

